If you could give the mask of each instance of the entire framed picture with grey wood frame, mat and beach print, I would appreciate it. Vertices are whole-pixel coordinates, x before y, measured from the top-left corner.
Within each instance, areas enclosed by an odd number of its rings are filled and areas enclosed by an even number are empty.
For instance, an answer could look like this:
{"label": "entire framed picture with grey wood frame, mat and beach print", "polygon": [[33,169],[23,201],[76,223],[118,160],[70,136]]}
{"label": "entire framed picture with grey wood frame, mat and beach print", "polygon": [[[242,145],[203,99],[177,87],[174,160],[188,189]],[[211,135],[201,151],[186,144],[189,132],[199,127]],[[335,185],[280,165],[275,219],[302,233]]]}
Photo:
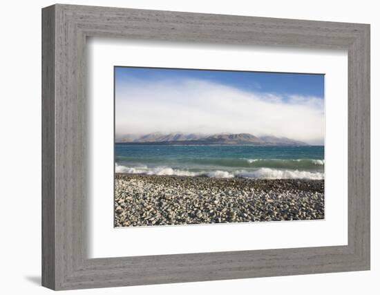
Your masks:
{"label": "entire framed picture with grey wood frame, mat and beach print", "polygon": [[370,269],[370,26],[42,10],[42,284]]}

